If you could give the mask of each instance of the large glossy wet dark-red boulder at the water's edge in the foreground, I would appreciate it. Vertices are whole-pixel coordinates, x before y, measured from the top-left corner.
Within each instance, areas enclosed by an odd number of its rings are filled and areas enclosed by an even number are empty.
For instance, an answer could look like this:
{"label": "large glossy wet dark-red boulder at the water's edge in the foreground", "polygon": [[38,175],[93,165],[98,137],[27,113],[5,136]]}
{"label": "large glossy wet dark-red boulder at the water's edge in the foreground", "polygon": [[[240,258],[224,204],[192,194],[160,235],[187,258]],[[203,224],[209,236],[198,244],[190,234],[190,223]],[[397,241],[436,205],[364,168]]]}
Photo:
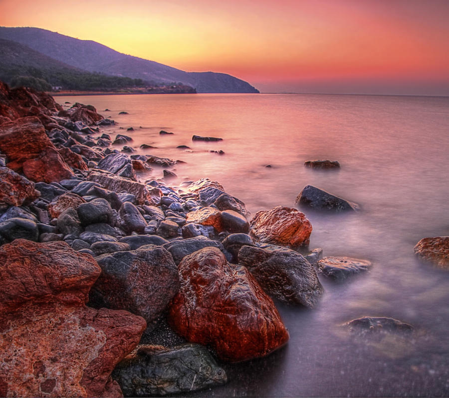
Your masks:
{"label": "large glossy wet dark-red boulder at the water's edge in the foreground", "polygon": [[219,249],[188,255],[178,269],[181,287],[169,322],[189,342],[238,362],[268,355],[288,341],[271,299],[245,267],[227,263]]}

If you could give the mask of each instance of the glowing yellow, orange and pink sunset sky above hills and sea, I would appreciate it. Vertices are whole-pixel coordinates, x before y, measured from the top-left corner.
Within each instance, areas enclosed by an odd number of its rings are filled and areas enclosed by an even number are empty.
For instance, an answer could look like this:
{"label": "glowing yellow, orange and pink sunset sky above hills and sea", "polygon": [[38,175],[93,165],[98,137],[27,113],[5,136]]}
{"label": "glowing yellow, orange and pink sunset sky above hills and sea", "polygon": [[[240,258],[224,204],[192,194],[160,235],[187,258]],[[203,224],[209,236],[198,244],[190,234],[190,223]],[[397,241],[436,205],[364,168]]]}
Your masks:
{"label": "glowing yellow, orange and pink sunset sky above hills and sea", "polygon": [[34,26],[262,92],[449,95],[449,0],[0,0]]}

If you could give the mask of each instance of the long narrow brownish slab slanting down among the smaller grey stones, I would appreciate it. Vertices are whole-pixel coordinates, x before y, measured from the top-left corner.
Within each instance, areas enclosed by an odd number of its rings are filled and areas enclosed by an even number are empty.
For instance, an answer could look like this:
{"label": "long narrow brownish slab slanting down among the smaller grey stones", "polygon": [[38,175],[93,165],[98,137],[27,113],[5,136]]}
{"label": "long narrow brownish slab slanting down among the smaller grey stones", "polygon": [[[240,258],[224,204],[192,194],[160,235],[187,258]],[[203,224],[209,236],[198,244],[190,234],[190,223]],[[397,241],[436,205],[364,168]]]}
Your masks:
{"label": "long narrow brownish slab slanting down among the smaller grey stones", "polygon": [[89,181],[98,182],[111,191],[132,193],[138,204],[144,204],[148,201],[151,205],[158,205],[161,200],[162,192],[159,188],[153,188],[109,172],[91,171],[87,178]]}

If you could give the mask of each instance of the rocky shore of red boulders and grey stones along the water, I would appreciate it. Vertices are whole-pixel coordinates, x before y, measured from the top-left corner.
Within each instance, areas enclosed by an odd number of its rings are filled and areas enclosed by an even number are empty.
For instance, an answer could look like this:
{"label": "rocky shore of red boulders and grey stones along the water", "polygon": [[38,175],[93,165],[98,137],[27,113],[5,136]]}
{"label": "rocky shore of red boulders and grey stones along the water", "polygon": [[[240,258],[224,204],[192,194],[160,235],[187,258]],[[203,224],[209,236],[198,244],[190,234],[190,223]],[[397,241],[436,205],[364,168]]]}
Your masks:
{"label": "rocky shore of red boulders and grey stones along the water", "polygon": [[[313,309],[318,276],[371,267],[320,260],[321,249],[308,249],[312,225],[295,208],[250,217],[217,181],[173,187],[170,170],[144,180],[142,172],[176,162],[129,155],[132,137],[102,131],[112,123],[91,105],[63,109],[0,82],[0,396],[224,384],[219,364],[287,344],[275,303]],[[358,209],[306,188],[298,203]]]}

